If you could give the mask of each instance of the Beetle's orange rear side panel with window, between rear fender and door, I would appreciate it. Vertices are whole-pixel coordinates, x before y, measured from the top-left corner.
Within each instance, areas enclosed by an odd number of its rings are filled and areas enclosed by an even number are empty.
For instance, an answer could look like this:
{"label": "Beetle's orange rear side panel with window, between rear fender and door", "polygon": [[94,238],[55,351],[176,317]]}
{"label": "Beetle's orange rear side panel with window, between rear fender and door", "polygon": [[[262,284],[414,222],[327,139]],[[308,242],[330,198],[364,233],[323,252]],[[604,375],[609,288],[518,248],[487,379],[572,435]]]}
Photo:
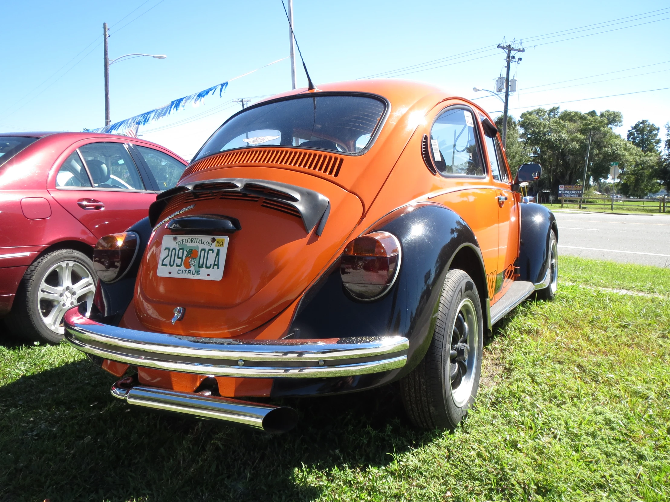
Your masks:
{"label": "Beetle's orange rear side panel with window, between rear fender and door", "polygon": [[474,232],[492,297],[499,258],[498,192],[486,171],[474,117],[470,107],[454,105],[440,111],[433,122],[429,153],[445,187],[433,200],[456,212]]}

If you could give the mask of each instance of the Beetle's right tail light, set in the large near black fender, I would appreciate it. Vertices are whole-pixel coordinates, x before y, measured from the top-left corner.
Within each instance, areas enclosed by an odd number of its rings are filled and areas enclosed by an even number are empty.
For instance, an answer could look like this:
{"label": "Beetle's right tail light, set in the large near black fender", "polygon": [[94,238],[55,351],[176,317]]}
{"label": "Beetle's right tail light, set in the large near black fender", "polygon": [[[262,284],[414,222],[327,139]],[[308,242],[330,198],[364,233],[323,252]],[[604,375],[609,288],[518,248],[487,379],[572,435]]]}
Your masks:
{"label": "Beetle's right tail light, set in the large near black fender", "polygon": [[378,299],[393,286],[400,259],[400,242],[389,232],[373,232],[352,240],[340,260],[344,288],[359,300]]}

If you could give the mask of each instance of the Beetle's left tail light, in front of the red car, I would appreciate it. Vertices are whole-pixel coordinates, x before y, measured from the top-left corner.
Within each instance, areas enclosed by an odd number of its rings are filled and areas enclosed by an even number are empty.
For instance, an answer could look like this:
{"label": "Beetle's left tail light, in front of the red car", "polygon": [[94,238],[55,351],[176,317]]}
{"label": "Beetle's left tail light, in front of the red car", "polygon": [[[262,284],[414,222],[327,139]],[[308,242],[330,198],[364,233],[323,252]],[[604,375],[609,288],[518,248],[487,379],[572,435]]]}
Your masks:
{"label": "Beetle's left tail light, in front of the red car", "polygon": [[139,236],[135,232],[109,234],[93,249],[93,268],[100,280],[115,282],[129,270],[137,254]]}

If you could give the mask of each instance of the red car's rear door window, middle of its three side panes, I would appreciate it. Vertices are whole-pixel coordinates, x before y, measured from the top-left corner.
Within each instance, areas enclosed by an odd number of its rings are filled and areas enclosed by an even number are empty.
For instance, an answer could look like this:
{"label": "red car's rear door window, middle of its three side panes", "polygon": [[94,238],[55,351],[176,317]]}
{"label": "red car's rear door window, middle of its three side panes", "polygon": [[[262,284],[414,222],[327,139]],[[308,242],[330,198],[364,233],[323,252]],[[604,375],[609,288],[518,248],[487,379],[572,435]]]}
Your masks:
{"label": "red car's rear door window, middle of its three side panes", "polygon": [[132,157],[122,143],[90,143],[80,147],[93,185],[97,188],[143,190]]}

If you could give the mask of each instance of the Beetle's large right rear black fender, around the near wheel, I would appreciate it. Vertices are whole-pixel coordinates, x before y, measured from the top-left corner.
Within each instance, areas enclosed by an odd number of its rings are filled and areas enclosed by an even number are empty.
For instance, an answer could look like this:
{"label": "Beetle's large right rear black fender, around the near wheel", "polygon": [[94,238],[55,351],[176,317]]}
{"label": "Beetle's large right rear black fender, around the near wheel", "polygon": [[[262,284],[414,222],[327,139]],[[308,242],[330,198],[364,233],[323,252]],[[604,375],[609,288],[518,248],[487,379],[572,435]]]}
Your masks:
{"label": "Beetle's large right rear black fender, around the near wheel", "polygon": [[[482,255],[470,227],[452,210],[436,203],[401,207],[371,226],[365,234],[383,230],[401,243],[398,277],[379,300],[352,298],[342,286],[339,260],[306,291],[289,333],[299,339],[401,335],[409,339],[407,363],[400,369],[345,378],[276,379],[272,396],[306,396],[353,392],[402,378],[425,355],[435,327],[444,278],[454,258],[458,268],[469,259],[487,319],[486,274]],[[485,327],[485,330],[488,327]]]}

